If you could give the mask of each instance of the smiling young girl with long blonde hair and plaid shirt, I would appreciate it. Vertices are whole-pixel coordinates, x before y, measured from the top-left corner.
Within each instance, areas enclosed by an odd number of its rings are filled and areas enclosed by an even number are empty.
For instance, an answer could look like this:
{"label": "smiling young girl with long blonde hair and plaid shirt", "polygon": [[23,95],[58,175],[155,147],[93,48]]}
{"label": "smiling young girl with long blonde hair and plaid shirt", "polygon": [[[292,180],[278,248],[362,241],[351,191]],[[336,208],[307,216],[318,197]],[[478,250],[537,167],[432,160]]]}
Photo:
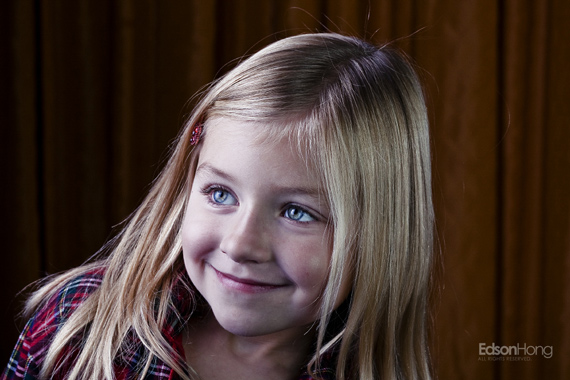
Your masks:
{"label": "smiling young girl with long blonde hair and plaid shirt", "polygon": [[411,65],[286,38],[215,82],[98,261],[56,276],[3,379],[429,379],[433,210]]}

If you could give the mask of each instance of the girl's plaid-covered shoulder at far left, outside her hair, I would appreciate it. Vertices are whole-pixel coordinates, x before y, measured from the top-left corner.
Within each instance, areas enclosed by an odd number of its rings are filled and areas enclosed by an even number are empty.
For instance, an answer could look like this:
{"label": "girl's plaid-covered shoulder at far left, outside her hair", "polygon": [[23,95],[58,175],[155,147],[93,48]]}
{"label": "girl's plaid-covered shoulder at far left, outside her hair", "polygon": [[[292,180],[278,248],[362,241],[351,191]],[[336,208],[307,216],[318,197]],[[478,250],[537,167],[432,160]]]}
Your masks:
{"label": "girl's plaid-covered shoulder at far left, outside her hair", "polygon": [[[75,273],[75,276],[63,280],[57,277],[52,280],[57,285],[52,291],[46,292],[45,300],[38,302],[39,306],[20,334],[1,380],[35,379],[39,376],[39,369],[55,334],[99,288],[105,270],[99,267]],[[54,285],[50,283],[45,286]]]}

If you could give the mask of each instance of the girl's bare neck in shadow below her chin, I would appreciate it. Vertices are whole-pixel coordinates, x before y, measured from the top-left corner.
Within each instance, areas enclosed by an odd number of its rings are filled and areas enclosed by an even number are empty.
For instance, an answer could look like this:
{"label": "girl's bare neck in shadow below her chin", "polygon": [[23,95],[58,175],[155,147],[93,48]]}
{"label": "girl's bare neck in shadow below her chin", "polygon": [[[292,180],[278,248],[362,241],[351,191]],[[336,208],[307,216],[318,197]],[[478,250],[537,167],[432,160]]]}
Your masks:
{"label": "girl's bare neck in shadow below her chin", "polygon": [[238,336],[208,313],[189,324],[184,350],[188,364],[204,379],[294,379],[308,361],[314,339],[310,326],[264,336]]}

